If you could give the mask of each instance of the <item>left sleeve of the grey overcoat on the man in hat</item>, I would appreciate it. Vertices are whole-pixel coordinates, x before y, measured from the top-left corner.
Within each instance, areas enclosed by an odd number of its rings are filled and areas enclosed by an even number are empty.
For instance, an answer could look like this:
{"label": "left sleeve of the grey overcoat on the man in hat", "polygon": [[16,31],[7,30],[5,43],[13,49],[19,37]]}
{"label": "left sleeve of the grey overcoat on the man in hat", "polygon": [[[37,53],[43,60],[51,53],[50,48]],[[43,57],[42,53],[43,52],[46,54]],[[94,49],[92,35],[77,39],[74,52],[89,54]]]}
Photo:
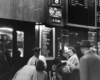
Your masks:
{"label": "left sleeve of the grey overcoat on the man in hat", "polygon": [[80,80],[88,80],[88,64],[84,58],[80,59]]}

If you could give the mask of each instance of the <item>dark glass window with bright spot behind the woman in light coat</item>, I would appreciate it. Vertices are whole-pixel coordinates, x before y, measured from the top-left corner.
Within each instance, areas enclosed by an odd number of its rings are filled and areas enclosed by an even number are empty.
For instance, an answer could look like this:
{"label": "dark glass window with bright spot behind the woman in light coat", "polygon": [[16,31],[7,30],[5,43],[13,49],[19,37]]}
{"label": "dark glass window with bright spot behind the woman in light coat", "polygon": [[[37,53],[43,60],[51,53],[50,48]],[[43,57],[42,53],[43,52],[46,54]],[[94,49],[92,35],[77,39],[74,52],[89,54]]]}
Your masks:
{"label": "dark glass window with bright spot behind the woman in light coat", "polygon": [[[67,59],[69,58],[68,55],[68,48],[74,47],[77,51],[77,55],[80,58],[82,56],[82,53],[80,51],[80,42],[81,40],[87,40],[88,39],[88,31],[84,30],[67,30],[62,28],[57,28],[57,56],[64,56]],[[61,51],[62,50],[62,51]],[[65,60],[62,59],[62,60]]]}

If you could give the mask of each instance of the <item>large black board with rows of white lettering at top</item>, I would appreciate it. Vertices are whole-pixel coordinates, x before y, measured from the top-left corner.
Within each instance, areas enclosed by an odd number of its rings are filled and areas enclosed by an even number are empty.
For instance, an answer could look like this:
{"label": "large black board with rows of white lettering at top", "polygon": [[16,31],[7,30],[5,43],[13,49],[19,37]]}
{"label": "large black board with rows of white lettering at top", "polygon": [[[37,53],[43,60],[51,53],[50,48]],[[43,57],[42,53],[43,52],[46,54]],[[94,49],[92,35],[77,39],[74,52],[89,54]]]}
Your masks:
{"label": "large black board with rows of white lettering at top", "polygon": [[68,1],[68,23],[88,25],[88,0]]}

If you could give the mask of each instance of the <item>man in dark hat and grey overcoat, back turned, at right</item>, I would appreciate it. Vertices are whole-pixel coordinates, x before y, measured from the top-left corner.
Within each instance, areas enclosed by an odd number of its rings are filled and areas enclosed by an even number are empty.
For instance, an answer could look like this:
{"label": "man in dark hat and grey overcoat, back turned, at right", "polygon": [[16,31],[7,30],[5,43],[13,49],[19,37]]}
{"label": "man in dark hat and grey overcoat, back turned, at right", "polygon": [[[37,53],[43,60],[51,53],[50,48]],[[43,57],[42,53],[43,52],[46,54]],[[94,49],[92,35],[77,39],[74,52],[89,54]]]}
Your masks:
{"label": "man in dark hat and grey overcoat, back turned, at right", "polygon": [[80,80],[100,80],[100,57],[90,47],[88,40],[80,43],[81,52],[84,54],[80,59]]}

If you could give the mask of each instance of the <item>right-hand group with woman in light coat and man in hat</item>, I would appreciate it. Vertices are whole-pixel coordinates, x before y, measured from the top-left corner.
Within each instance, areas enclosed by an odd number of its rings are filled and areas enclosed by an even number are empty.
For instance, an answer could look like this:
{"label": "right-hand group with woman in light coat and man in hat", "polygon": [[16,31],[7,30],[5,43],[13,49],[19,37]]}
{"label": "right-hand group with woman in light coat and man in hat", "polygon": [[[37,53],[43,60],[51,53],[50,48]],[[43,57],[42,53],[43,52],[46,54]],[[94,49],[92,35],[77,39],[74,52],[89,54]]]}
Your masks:
{"label": "right-hand group with woman in light coat and man in hat", "polygon": [[100,48],[97,51],[88,40],[82,40],[80,51],[83,54],[80,59],[73,47],[68,49],[67,60],[55,58],[57,80],[100,80]]}

